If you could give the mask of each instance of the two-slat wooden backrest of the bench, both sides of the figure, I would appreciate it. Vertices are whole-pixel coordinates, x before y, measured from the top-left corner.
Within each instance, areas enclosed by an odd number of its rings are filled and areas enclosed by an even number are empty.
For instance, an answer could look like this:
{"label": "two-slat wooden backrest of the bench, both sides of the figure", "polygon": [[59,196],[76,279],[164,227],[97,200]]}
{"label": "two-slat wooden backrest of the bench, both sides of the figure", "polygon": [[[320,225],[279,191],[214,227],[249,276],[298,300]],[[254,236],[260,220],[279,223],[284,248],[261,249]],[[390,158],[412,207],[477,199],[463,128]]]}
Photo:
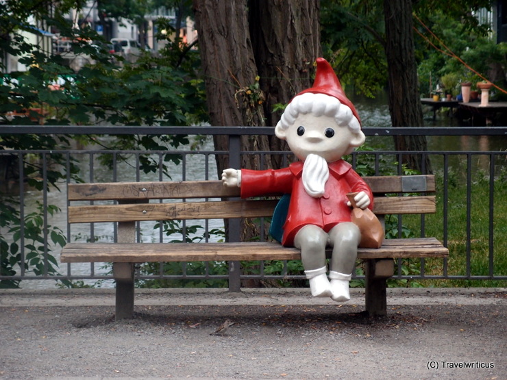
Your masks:
{"label": "two-slat wooden backrest of the bench, both sides of the figure", "polygon": [[[436,212],[434,175],[364,177],[375,194],[373,212]],[[116,201],[70,205],[69,223],[260,218],[273,215],[277,199],[239,199],[239,188],[221,181],[69,183],[69,201]],[[408,195],[411,195],[408,197]],[[162,203],[160,199],[169,200]],[[151,202],[150,202],[151,201]]]}

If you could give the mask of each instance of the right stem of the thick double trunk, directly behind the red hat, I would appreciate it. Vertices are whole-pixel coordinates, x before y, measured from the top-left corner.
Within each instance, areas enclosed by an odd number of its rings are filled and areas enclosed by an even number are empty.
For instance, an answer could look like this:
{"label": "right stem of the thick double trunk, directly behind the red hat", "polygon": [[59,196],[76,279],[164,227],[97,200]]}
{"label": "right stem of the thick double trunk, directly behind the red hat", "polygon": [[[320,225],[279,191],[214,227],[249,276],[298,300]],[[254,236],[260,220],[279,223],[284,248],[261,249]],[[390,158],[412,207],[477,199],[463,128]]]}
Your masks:
{"label": "right stem of the thick double trunk, directly behind the red hat", "polygon": [[[280,120],[282,112],[273,112],[276,104],[286,104],[312,86],[314,62],[321,55],[319,14],[317,0],[249,0],[253,56],[266,94],[266,125],[274,127]],[[275,136],[269,145],[273,151],[287,150]],[[271,164],[280,167],[281,163]]]}

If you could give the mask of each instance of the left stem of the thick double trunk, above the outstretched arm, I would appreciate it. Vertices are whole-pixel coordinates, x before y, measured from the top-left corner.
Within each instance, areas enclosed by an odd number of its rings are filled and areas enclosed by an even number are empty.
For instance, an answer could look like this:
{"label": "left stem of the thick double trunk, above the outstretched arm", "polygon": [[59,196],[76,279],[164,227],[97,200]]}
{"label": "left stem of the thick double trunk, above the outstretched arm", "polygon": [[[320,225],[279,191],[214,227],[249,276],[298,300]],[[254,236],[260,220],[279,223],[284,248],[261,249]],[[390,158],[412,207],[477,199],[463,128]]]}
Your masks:
{"label": "left stem of the thick double trunk, above the outstretched arm", "polygon": [[[255,88],[257,66],[247,28],[246,0],[194,0],[199,51],[205,76],[208,113],[212,125],[264,125],[262,99]],[[260,103],[261,102],[261,103]],[[214,138],[215,149],[227,151],[227,136]],[[243,150],[268,150],[267,139],[242,138]],[[258,157],[244,157],[242,167],[258,168]],[[217,173],[229,167],[217,156]]]}

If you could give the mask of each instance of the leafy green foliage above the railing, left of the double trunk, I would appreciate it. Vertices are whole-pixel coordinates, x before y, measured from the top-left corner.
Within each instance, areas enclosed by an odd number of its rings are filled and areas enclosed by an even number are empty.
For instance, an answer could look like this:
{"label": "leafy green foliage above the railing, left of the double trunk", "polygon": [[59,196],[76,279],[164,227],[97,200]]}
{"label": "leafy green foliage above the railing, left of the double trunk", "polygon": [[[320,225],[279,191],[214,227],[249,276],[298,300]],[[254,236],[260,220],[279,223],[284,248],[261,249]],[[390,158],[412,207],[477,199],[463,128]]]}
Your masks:
{"label": "leafy green foliage above the railing, left of the double trunk", "polygon": [[[5,53],[16,55],[27,67],[27,71],[3,75],[0,123],[189,125],[206,120],[197,52],[184,51],[180,40],[168,37],[160,54],[143,52],[135,63],[126,62],[113,56],[92,28],[73,28],[65,16],[75,1],[60,1],[53,8],[46,5],[11,0],[0,8],[0,49],[4,57]],[[43,36],[29,25],[30,16],[36,16],[47,29],[58,29],[60,37],[71,41],[73,52],[60,55],[38,49]],[[35,38],[29,40],[27,34]],[[65,55],[82,55],[91,64],[75,72],[64,61]],[[5,61],[0,65],[5,71]],[[20,114],[29,117],[16,117]],[[167,139],[170,144],[179,144],[169,136]],[[127,144],[123,138],[121,146],[163,148],[149,141],[133,138]],[[37,139],[33,143],[37,144]]]}

